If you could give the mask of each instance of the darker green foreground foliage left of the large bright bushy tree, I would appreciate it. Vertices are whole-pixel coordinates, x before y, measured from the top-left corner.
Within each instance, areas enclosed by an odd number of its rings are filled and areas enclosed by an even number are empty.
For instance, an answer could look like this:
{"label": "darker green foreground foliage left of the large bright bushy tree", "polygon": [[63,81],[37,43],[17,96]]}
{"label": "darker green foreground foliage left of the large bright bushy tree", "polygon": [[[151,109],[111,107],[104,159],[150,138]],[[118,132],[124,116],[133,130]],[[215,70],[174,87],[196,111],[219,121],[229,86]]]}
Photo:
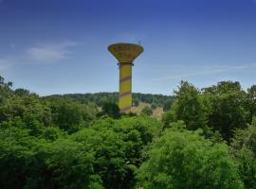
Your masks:
{"label": "darker green foreground foliage left of the large bright bushy tree", "polygon": [[56,127],[34,135],[21,119],[8,123],[0,129],[1,188],[131,188],[160,128],[150,117],[124,117],[71,135]]}

